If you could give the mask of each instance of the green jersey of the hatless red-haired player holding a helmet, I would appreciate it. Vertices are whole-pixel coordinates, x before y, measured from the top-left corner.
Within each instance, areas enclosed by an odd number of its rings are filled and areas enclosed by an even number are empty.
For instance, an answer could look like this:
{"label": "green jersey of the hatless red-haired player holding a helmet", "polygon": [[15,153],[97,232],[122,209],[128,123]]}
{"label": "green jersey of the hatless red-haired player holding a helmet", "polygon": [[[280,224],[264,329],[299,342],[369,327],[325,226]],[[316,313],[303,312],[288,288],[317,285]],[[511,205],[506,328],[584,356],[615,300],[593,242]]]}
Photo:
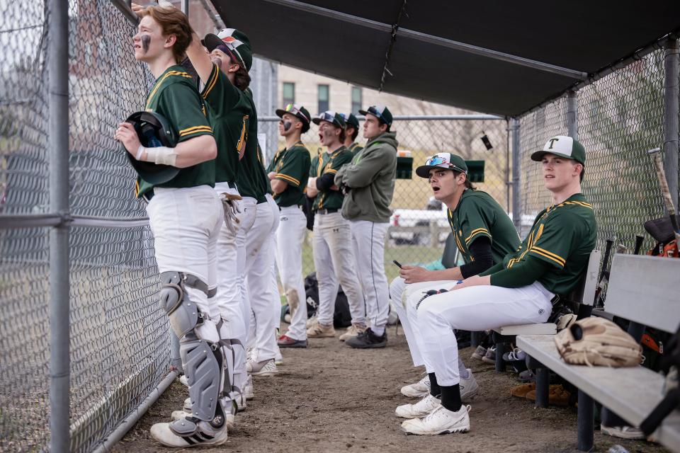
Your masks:
{"label": "green jersey of the hatless red-haired player holding a helmet", "polygon": [[[145,110],[163,115],[177,132],[179,143],[199,135],[212,135],[212,121],[203,98],[193,86],[191,75],[179,65],[169,67],[156,80]],[[158,187],[186,188],[204,184],[215,187],[215,161],[181,168],[177,176]],[[151,183],[137,178],[135,195],[151,195],[153,188]]]}

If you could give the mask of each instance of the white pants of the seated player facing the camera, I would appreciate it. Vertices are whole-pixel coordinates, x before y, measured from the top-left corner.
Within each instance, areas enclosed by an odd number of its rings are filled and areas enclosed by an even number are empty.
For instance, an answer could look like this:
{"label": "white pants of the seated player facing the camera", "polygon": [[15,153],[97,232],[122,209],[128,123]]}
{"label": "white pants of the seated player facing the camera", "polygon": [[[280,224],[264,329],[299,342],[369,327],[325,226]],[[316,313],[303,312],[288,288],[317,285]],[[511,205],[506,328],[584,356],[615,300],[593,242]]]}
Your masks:
{"label": "white pants of the seated player facing the camera", "polygon": [[[544,323],[550,317],[555,296],[534,282],[520,288],[473,286],[434,294],[416,304],[428,289],[441,288],[441,282],[418,289],[407,300],[408,316],[416,320],[422,338],[419,345],[426,369],[437,382],[452,386],[460,382],[458,342],[453,329],[485,331],[515,324]],[[448,288],[445,288],[448,289]]]}

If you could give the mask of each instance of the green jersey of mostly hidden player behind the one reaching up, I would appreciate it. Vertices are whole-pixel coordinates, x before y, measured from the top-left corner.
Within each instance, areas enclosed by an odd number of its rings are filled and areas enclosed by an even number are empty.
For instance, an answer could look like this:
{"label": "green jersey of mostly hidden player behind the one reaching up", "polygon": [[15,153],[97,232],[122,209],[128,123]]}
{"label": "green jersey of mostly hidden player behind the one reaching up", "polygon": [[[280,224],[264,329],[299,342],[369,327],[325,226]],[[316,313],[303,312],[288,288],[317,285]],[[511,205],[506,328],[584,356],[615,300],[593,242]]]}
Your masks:
{"label": "green jersey of mostly hidden player behind the one reaching up", "polygon": [[250,88],[243,91],[246,101],[250,105],[248,137],[246,149],[239,161],[239,171],[236,185],[242,197],[253,197],[257,202],[265,200],[264,195],[271,191],[269,178],[264,171],[262,151],[257,140],[257,111],[253,102]]}

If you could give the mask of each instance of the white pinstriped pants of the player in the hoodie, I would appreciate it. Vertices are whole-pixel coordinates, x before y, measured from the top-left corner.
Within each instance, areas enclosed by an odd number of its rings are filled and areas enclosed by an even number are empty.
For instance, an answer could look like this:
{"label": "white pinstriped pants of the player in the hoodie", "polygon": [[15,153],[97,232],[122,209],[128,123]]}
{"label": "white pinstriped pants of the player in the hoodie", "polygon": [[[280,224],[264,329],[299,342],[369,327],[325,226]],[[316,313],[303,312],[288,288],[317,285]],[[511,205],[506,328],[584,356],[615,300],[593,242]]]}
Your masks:
{"label": "white pinstriped pants of the player in the hoodie", "polygon": [[390,291],[385,275],[385,236],[390,224],[368,220],[350,220],[349,224],[366,317],[371,330],[382,335],[390,314]]}

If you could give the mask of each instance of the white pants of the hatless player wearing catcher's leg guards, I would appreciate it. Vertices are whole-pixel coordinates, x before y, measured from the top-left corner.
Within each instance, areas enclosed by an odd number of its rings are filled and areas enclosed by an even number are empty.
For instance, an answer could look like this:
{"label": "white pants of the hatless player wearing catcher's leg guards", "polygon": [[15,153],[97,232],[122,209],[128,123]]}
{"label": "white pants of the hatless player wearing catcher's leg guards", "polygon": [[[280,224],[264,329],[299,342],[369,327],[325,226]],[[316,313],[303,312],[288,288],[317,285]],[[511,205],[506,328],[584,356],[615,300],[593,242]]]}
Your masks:
{"label": "white pants of the hatless player wearing catcher's leg guards", "polygon": [[[224,222],[222,202],[209,185],[192,188],[154,188],[147,205],[149,226],[154,235],[154,254],[159,273],[174,270],[189,273],[217,286],[217,236]],[[196,328],[198,336],[212,343],[220,338],[216,325],[220,313],[208,295],[186,287],[192,302],[207,319]]]}

